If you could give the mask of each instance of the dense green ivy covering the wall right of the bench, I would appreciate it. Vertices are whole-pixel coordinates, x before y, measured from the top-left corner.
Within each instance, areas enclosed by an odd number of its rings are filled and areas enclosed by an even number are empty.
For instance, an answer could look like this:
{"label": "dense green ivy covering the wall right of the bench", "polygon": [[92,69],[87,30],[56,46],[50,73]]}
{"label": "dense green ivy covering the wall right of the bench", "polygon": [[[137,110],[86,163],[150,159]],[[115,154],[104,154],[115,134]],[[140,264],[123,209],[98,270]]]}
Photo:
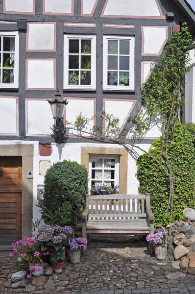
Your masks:
{"label": "dense green ivy covering the wall right of the bench", "polygon": [[[149,153],[164,167],[164,159],[160,155],[162,137],[155,140]],[[183,220],[182,211],[186,207],[195,207],[195,148],[193,139],[186,127],[176,123],[174,139],[168,138],[165,146],[173,173],[174,198],[173,213],[166,214],[169,202],[169,177],[158,163],[147,154],[137,160],[137,178],[140,182],[139,193],[151,194],[151,208],[155,216],[155,225],[166,225],[174,220]]]}

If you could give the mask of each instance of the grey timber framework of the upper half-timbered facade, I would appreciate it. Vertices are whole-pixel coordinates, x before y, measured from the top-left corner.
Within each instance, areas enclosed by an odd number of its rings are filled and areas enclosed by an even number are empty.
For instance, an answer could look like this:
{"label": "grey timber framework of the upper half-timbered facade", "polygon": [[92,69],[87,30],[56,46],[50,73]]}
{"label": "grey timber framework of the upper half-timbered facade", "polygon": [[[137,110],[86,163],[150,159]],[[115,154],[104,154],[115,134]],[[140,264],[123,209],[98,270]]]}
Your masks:
{"label": "grey timber framework of the upper half-timbered facade", "polygon": [[[91,17],[81,16],[81,1],[74,0],[74,15],[43,15],[43,1],[35,0],[35,15],[25,14],[3,14],[2,0],[0,0],[1,21],[13,22],[0,23],[0,31],[15,31],[17,29],[17,20],[25,19],[27,22],[56,22],[56,52],[30,52],[26,51],[26,30],[19,30],[20,34],[20,52],[19,52],[19,89],[0,89],[2,96],[18,96],[19,97],[19,136],[2,135],[0,140],[27,140],[39,141],[40,143],[52,143],[54,139],[47,136],[27,136],[25,130],[25,99],[26,98],[53,98],[55,91],[32,91],[25,90],[25,59],[26,58],[56,58],[56,86],[59,88],[60,94],[66,97],[75,98],[96,98],[97,109],[97,124],[100,123],[98,118],[102,114],[103,98],[117,98],[117,99],[136,99],[137,103],[131,115],[137,114],[141,107],[141,62],[142,61],[156,61],[158,56],[142,56],[142,34],[141,25],[167,25],[169,27],[169,38],[171,37],[171,25],[179,25],[187,21],[189,29],[194,33],[195,14],[192,9],[186,4],[185,0],[159,0],[160,7],[164,15],[168,12],[174,14],[174,20],[166,19],[148,19],[148,18],[106,18],[100,17],[105,0],[98,0],[94,15]],[[64,23],[94,23],[96,27],[66,27]],[[135,28],[105,28],[103,24],[117,24],[117,25],[135,25]],[[97,40],[97,81],[96,90],[65,90],[63,89],[63,35],[64,34],[94,34]],[[135,91],[119,91],[107,90],[102,88],[102,59],[103,35],[133,35],[135,36]],[[68,111],[68,106],[67,106]],[[184,110],[185,112],[185,110]],[[185,114],[184,114],[185,115]],[[128,132],[130,123],[124,125],[126,133]],[[129,140],[127,139],[127,142]],[[144,139],[142,143],[151,144],[152,139]],[[64,138],[64,143],[83,143],[93,142],[101,143],[98,140],[91,140],[87,138]],[[104,141],[106,143],[106,141]],[[136,142],[138,143],[138,142]]]}

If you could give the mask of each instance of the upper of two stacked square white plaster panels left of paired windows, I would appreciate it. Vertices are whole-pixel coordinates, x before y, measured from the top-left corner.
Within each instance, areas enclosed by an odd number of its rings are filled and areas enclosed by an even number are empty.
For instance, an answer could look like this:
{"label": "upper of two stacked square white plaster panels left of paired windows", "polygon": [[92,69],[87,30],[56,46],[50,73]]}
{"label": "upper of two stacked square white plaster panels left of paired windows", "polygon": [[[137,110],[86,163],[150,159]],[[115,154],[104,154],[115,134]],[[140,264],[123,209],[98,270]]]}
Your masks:
{"label": "upper of two stacked square white plaster panels left of paired windows", "polygon": [[54,24],[28,24],[28,49],[53,50]]}

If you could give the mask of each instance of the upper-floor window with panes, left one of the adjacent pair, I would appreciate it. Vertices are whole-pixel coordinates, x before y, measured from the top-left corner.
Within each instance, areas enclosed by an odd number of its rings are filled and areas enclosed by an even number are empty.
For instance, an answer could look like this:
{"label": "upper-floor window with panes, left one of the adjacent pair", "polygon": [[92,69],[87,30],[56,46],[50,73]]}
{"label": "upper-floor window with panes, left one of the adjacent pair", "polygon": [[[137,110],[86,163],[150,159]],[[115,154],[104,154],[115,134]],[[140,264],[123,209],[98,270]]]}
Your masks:
{"label": "upper-floor window with panes, left one of the adjacent pair", "polygon": [[96,36],[64,35],[64,88],[96,89]]}

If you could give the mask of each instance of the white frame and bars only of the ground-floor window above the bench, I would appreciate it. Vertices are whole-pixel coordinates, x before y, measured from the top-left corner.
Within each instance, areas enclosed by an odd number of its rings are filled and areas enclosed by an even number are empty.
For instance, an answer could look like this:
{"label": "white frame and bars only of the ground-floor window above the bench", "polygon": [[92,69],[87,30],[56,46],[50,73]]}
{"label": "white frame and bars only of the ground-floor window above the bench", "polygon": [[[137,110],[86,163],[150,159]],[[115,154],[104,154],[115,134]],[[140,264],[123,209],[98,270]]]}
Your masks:
{"label": "white frame and bars only of the ground-floor window above the bench", "polygon": [[[108,181],[114,181],[114,185],[118,185],[119,186],[119,173],[120,173],[120,155],[103,155],[103,154],[93,154],[89,156],[89,184],[88,184],[88,188],[89,191],[91,191],[91,183],[92,183],[92,159],[93,158],[97,158],[97,159],[115,159],[115,169],[110,169],[110,170],[115,170],[115,179],[109,179]],[[94,168],[93,168],[94,169]],[[104,170],[109,170],[109,168],[96,168],[97,170],[102,170],[102,175],[103,175],[103,171]],[[97,179],[98,181],[98,179]],[[99,179],[99,181],[101,181]],[[103,183],[103,181],[102,181]],[[106,181],[104,182],[104,184],[106,183]]]}

